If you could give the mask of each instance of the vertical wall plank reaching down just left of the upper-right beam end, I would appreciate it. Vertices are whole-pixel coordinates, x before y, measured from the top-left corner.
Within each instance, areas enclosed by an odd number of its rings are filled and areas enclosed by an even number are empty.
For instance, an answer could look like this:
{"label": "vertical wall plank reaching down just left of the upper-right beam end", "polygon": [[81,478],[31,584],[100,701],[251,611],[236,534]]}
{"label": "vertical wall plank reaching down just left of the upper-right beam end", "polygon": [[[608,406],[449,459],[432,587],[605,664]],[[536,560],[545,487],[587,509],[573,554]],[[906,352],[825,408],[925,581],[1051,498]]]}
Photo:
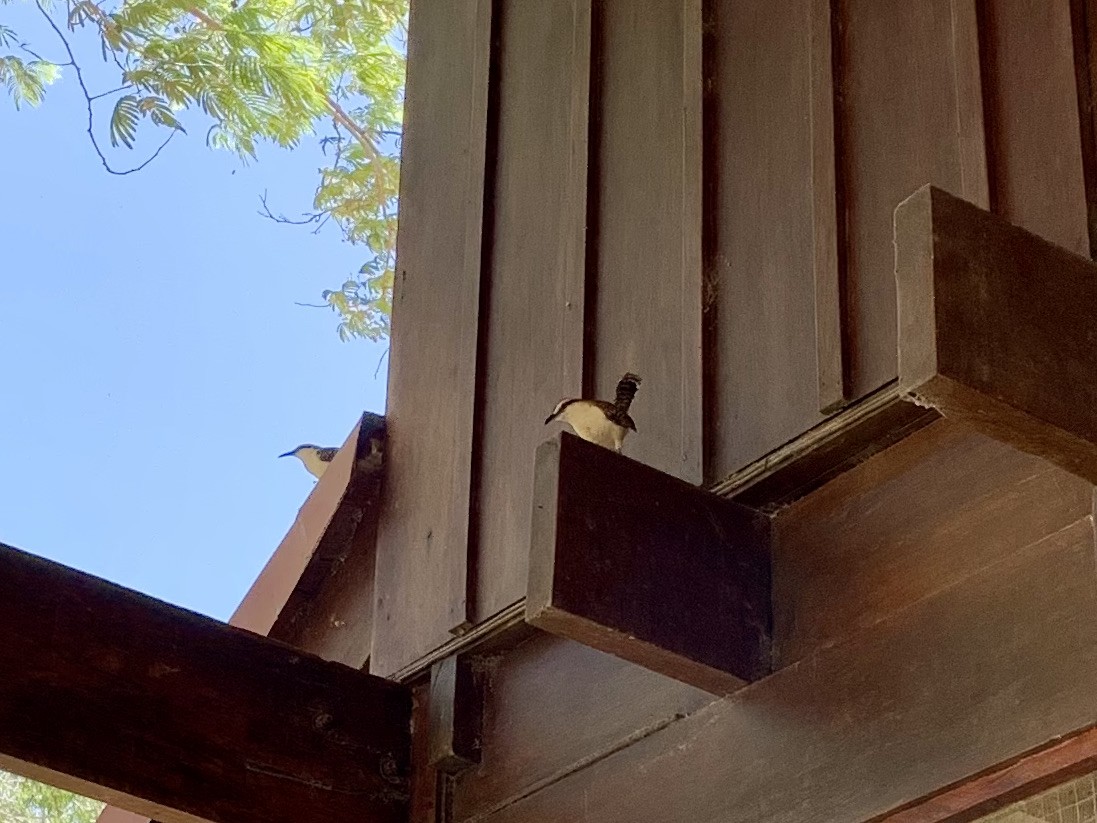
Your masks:
{"label": "vertical wall plank reaching down just left of the upper-right beam end", "polygon": [[[850,397],[896,373],[892,214],[927,182],[979,201],[982,123],[970,0],[836,0]],[[976,52],[972,54],[973,49]]]}

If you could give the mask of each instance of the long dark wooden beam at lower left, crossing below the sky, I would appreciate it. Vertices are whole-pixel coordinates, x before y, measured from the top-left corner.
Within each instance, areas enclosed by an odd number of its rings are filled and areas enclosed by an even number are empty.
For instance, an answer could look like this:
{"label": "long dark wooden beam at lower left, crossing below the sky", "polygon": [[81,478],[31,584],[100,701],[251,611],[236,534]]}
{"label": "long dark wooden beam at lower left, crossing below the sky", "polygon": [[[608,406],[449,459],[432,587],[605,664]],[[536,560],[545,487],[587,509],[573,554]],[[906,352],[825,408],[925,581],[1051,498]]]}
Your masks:
{"label": "long dark wooden beam at lower left, crossing below the sky", "polygon": [[163,823],[407,819],[405,687],[0,545],[0,767]]}

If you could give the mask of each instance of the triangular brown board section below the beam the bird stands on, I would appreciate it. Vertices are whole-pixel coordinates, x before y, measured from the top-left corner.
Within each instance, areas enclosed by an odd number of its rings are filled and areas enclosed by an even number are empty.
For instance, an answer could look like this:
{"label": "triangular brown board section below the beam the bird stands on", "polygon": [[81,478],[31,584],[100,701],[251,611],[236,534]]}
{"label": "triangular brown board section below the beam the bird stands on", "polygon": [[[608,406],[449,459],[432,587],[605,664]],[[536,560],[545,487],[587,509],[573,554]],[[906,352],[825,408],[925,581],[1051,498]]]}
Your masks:
{"label": "triangular brown board section below the beam the bird stands on", "polygon": [[713,701],[700,689],[543,633],[480,665],[487,696],[482,758],[456,781],[455,821],[490,814]]}

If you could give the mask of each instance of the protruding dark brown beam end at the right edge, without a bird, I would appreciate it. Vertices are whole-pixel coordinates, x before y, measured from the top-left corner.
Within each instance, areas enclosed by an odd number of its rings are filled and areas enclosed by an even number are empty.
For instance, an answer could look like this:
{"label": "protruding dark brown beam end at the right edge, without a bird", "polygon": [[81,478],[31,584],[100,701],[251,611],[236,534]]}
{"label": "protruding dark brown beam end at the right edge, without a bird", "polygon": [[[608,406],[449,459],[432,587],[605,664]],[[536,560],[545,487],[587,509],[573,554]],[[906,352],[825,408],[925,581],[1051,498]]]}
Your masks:
{"label": "protruding dark brown beam end at the right edge, without a bird", "polygon": [[932,187],[895,249],[900,390],[1097,483],[1097,264]]}

